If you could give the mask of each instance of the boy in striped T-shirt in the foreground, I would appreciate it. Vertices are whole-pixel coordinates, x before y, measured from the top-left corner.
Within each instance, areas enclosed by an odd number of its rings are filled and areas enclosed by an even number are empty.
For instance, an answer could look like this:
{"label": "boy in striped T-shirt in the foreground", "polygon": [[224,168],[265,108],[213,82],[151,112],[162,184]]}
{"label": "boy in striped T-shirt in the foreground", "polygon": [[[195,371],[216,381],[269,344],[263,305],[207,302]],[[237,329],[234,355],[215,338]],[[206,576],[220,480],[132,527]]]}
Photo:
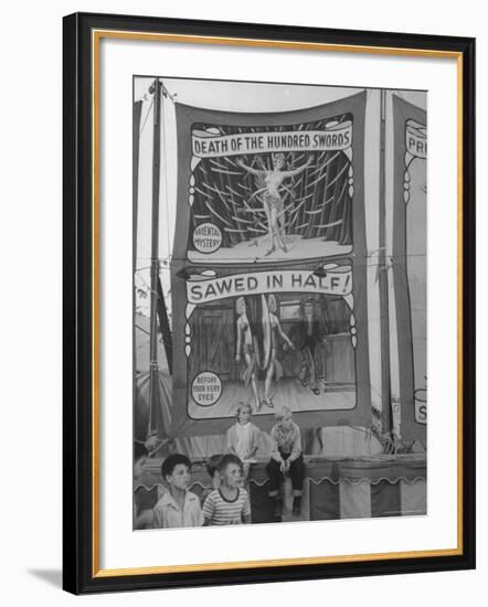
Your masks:
{"label": "boy in striped T-shirt in the foreground", "polygon": [[251,523],[247,491],[240,487],[242,461],[233,454],[223,456],[219,464],[221,486],[214,489],[203,504],[203,525]]}

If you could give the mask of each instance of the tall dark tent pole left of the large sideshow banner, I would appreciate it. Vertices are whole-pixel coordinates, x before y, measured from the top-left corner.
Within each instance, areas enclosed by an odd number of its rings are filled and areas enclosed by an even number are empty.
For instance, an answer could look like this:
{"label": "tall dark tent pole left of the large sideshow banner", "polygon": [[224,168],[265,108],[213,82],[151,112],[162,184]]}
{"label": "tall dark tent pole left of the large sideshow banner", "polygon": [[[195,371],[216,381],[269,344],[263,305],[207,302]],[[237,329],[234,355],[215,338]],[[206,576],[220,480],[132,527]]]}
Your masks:
{"label": "tall dark tent pole left of the large sideshow banner", "polygon": [[158,368],[158,280],[159,280],[159,190],[161,171],[161,82],[156,78],[149,88],[155,96],[152,135],[152,214],[151,214],[151,299],[149,350],[149,427],[148,437],[157,432],[156,412],[159,408]]}

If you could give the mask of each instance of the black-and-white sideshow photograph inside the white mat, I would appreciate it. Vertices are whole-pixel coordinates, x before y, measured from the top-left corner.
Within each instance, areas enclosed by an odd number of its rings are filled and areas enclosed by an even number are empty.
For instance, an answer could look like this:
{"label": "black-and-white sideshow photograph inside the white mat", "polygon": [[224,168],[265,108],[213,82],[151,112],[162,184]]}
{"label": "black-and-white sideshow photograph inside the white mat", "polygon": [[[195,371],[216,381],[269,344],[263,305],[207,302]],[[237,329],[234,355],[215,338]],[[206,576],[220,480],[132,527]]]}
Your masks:
{"label": "black-and-white sideshow photograph inside the white mat", "polygon": [[131,102],[134,530],[426,515],[427,92]]}

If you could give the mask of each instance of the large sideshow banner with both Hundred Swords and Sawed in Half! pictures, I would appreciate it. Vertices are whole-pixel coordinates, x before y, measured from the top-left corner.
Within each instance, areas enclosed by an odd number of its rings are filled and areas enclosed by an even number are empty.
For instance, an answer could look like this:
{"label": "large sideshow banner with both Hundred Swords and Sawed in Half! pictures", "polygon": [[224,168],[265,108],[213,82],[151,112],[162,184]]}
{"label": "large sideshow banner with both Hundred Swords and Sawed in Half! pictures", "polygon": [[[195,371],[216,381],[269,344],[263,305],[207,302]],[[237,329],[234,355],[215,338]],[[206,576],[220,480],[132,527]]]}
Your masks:
{"label": "large sideshow banner with both Hundred Swords and Sawed in Half! pictures", "polygon": [[238,114],[177,104],[173,434],[371,424],[365,93]]}

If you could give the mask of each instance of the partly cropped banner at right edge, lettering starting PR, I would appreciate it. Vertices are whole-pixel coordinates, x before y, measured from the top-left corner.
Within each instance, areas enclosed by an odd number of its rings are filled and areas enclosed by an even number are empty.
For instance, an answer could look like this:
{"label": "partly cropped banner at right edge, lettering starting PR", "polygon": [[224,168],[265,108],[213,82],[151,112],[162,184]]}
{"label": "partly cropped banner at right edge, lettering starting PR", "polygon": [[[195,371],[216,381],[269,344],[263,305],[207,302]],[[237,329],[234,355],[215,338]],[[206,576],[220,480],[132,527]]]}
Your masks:
{"label": "partly cropped banner at right edge, lettering starting PR", "polygon": [[426,113],[393,95],[394,201],[392,340],[397,352],[393,432],[425,440],[427,424],[427,123]]}

